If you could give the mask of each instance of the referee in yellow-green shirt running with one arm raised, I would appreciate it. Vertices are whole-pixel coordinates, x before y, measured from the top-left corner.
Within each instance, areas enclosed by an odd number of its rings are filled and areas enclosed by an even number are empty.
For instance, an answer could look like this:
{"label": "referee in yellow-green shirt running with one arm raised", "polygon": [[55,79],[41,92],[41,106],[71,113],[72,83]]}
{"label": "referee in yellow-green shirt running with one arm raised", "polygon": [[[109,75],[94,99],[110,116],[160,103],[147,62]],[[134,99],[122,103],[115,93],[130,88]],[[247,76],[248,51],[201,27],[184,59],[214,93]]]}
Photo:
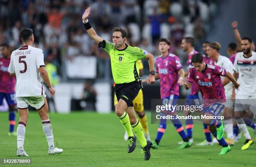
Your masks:
{"label": "referee in yellow-green shirt running with one arm raised", "polygon": [[[128,153],[133,152],[136,147],[136,136],[138,137],[144,160],[150,158],[150,148],[152,143],[146,141],[141,123],[136,118],[133,108],[133,99],[137,96],[141,89],[141,81],[139,78],[137,61],[143,58],[148,59],[150,75],[148,83],[154,83],[154,56],[147,51],[143,51],[138,47],[131,47],[125,43],[127,40],[127,32],[122,28],[114,28],[112,40],[113,43],[100,38],[95,30],[91,27],[89,20],[90,7],[87,8],[82,16],[84,28],[87,30],[90,38],[94,40],[99,47],[102,47],[110,56],[111,69],[113,78],[116,83],[115,94],[118,104],[115,113],[125,127],[128,134]],[[132,132],[136,134],[136,136]]]}

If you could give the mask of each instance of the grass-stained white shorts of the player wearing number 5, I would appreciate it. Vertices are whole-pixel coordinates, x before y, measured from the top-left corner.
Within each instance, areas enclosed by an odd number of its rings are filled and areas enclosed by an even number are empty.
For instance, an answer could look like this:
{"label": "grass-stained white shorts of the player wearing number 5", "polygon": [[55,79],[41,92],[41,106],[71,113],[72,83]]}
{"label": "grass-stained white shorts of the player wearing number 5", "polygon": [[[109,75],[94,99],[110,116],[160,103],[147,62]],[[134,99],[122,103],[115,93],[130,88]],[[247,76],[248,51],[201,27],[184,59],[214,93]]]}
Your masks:
{"label": "grass-stained white shorts of the player wearing number 5", "polygon": [[45,102],[44,98],[46,95],[31,96],[31,97],[16,97],[18,109],[27,109],[28,105],[36,108],[36,110],[41,109]]}

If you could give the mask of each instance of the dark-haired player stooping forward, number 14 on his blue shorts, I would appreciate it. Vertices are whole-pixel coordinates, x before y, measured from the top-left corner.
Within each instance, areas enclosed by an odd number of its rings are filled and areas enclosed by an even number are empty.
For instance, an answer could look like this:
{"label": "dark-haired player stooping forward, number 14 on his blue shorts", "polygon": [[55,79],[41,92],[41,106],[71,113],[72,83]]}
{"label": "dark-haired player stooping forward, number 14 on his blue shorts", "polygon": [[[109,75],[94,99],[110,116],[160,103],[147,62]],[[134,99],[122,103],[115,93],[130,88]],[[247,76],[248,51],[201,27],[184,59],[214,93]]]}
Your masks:
{"label": "dark-haired player stooping forward, number 14 on his blue shorts", "polygon": [[189,69],[189,77],[184,78],[183,84],[185,89],[189,89],[193,82],[197,83],[198,88],[203,95],[203,114],[204,116],[213,116],[212,118],[204,118],[204,124],[208,125],[208,129],[217,138],[220,145],[223,146],[220,154],[226,154],[230,151],[230,146],[223,138],[223,124],[214,116],[219,116],[225,106],[225,91],[220,76],[227,76],[236,88],[239,84],[236,79],[224,68],[220,66],[212,66],[203,61],[200,53],[192,57],[194,68]]}

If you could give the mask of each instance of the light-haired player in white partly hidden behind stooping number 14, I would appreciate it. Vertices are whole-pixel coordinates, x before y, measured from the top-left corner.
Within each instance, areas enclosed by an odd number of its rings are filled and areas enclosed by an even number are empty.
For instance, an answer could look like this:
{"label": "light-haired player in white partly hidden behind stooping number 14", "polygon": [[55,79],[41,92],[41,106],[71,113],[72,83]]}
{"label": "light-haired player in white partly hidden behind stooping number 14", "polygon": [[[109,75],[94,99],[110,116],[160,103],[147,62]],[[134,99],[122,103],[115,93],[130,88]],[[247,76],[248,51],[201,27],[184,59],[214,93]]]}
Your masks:
{"label": "light-haired player in white partly hidden behind stooping number 14", "polygon": [[[212,42],[207,46],[206,53],[210,58],[213,58],[215,65],[225,68],[226,71],[233,74],[233,64],[229,60],[229,58],[225,56],[221,56],[219,53],[220,43]],[[224,116],[224,124],[225,124],[225,132],[227,133],[226,142],[229,145],[234,145],[234,137],[233,137],[233,102],[231,101],[232,94],[232,82],[227,77],[221,76],[222,84],[225,89],[226,96],[226,105],[223,109]]]}

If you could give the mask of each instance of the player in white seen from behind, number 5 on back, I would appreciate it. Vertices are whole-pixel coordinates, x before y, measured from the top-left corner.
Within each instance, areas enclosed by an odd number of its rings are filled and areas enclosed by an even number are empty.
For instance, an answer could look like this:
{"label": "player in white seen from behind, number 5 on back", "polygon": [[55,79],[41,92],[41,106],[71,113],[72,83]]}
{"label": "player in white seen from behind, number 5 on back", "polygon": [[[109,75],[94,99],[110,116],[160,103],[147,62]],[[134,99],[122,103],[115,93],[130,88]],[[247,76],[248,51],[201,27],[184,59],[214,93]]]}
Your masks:
{"label": "player in white seen from behind, number 5 on back", "polygon": [[55,89],[51,86],[48,73],[44,65],[44,53],[41,49],[32,47],[34,42],[33,30],[24,28],[20,31],[23,46],[11,54],[8,71],[11,76],[16,76],[16,100],[20,121],[17,128],[17,155],[26,156],[23,144],[28,120],[28,105],[37,109],[41,117],[43,130],[49,145],[48,153],[56,154],[63,149],[54,147],[54,136],[48,115],[48,104],[45,98],[42,81],[44,79],[52,95]]}

